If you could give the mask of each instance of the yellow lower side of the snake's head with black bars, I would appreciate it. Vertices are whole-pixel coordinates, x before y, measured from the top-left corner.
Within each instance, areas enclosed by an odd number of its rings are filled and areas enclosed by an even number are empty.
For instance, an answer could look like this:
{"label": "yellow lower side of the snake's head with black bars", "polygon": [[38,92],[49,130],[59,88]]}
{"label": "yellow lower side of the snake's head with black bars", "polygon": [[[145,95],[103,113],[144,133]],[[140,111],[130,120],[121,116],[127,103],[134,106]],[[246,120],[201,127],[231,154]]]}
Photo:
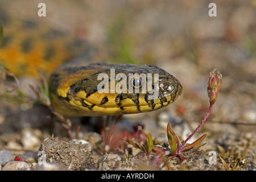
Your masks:
{"label": "yellow lower side of the snake's head with black bars", "polygon": [[[147,94],[100,94],[86,97],[83,91],[76,96],[60,97],[53,95],[52,104],[57,112],[67,117],[135,114],[158,110],[172,103],[171,95],[147,100]],[[88,114],[87,114],[88,113]]]}

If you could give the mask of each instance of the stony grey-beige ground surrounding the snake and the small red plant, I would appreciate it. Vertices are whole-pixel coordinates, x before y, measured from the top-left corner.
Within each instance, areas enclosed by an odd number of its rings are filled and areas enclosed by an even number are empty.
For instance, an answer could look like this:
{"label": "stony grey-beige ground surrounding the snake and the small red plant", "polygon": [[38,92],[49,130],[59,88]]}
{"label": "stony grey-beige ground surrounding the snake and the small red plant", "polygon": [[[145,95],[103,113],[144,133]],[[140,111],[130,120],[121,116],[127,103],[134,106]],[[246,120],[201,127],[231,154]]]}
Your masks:
{"label": "stony grey-beige ground surrounding the snake and the small red plant", "polygon": [[[6,100],[1,90],[0,169],[255,171],[256,2],[214,2],[216,17],[208,15],[210,2],[203,0],[44,1],[48,26],[91,42],[107,60],[164,68],[180,80],[183,94],[164,109],[124,115],[113,134],[116,140],[104,147],[98,118],[71,118],[73,138],[89,146],[71,142],[63,125],[50,119],[47,107]],[[37,19],[38,3],[1,1],[0,6],[9,7],[10,14]],[[222,73],[222,89],[208,121],[192,138],[207,134],[207,144],[184,152],[183,162],[170,157],[165,165],[155,165],[154,152],[145,156],[121,140],[142,125],[155,144],[167,146],[168,122],[181,138],[188,137],[207,113],[207,84],[214,68]],[[26,86],[34,79],[19,80],[27,95],[23,99],[34,99]],[[46,152],[43,166],[38,164],[43,161],[39,151]],[[209,164],[210,151],[216,154],[216,164]],[[23,162],[13,161],[14,156]]]}

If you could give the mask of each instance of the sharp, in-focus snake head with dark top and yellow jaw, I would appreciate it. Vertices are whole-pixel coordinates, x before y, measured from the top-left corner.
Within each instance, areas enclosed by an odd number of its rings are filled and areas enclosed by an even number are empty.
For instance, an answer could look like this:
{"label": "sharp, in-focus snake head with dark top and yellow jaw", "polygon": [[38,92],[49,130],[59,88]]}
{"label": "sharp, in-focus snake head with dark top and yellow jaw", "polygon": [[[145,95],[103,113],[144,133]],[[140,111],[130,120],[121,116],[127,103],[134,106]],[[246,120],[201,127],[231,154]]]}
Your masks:
{"label": "sharp, in-focus snake head with dark top and yellow jaw", "polygon": [[64,65],[53,72],[50,89],[53,107],[68,116],[153,111],[182,92],[179,80],[155,65],[107,63]]}

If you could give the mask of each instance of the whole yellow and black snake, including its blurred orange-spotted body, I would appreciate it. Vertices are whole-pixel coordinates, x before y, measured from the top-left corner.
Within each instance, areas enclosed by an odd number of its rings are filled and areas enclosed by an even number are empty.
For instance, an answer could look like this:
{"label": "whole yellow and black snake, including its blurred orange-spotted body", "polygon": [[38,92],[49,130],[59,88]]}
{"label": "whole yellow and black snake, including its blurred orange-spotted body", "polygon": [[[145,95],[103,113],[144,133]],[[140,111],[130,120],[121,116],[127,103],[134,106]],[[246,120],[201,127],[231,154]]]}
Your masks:
{"label": "whole yellow and black snake, including its blurred orange-spotted body", "polygon": [[[38,69],[50,72],[51,104],[65,117],[154,111],[171,104],[182,93],[179,80],[155,65],[106,63],[98,50],[88,43],[34,20],[14,21],[5,11],[0,11],[0,24],[3,30],[1,63],[18,76],[36,77]],[[113,70],[114,76],[111,75]],[[122,79],[115,77],[119,73],[124,76]],[[137,76],[129,77],[135,73]],[[104,88],[108,92],[103,93],[98,89],[102,74],[108,76]],[[145,85],[142,75],[150,75],[146,82],[150,84],[148,88],[157,91],[155,98],[150,97],[150,89],[142,92]],[[113,92],[122,80],[122,92]],[[139,92],[129,92],[125,85]]]}

